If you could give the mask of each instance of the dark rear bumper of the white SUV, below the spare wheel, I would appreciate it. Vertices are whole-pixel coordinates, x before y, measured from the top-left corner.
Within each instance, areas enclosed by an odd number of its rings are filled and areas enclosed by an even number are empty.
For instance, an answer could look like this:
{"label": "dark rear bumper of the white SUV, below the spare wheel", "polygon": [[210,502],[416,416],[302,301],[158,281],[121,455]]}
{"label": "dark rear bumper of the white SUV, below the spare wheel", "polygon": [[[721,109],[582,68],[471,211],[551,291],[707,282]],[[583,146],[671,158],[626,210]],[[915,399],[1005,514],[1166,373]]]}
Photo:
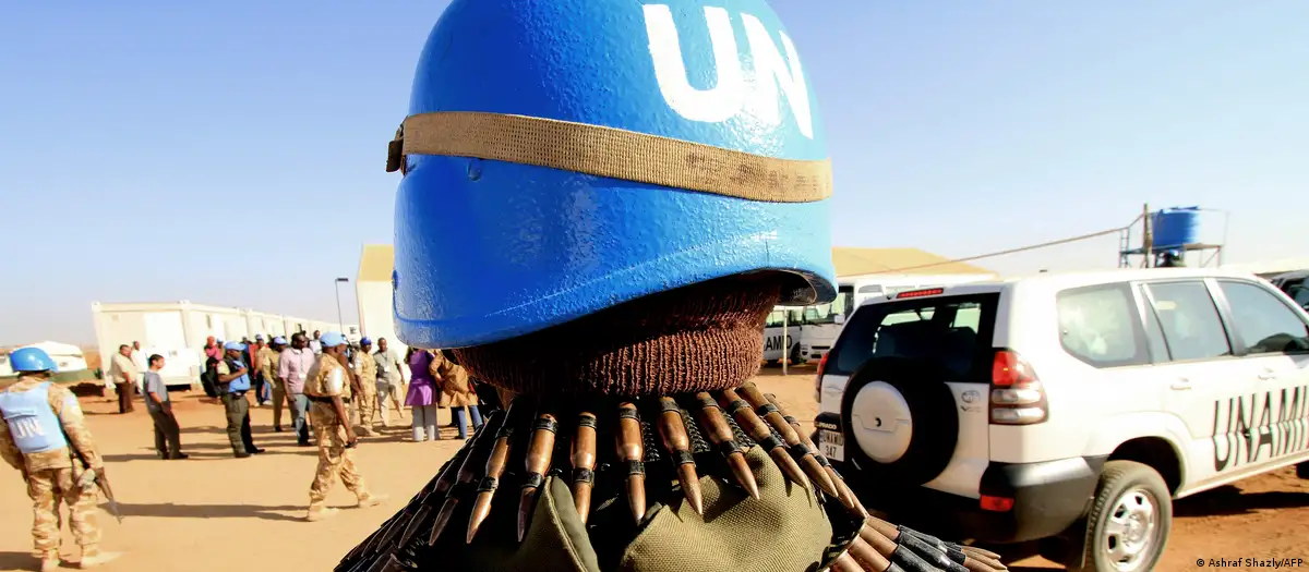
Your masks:
{"label": "dark rear bumper of the white SUV, below the spare wheel", "polygon": [[[831,414],[822,414],[816,424],[823,427],[831,422]],[[817,431],[813,439],[817,443]],[[982,509],[979,499],[920,486],[877,482],[874,475],[864,474],[848,462],[833,461],[833,465],[860,492],[864,504],[888,511],[906,525],[957,538],[1014,543],[1059,535],[1085,516],[1106,460],[1073,457],[1029,464],[992,462],[982,474],[979,492],[1012,499],[1012,507],[1003,512]]]}

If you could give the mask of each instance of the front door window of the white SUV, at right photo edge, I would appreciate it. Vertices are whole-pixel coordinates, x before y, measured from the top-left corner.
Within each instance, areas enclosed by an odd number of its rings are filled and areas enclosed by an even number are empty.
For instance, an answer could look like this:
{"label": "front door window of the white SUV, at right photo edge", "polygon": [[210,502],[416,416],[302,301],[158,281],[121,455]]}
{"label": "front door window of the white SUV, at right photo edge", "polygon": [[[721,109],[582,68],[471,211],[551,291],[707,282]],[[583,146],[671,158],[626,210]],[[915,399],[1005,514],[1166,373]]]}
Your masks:
{"label": "front door window of the white SUV, at right photo edge", "polygon": [[1309,328],[1291,307],[1266,289],[1236,281],[1219,281],[1232,308],[1232,329],[1251,354],[1304,351]]}

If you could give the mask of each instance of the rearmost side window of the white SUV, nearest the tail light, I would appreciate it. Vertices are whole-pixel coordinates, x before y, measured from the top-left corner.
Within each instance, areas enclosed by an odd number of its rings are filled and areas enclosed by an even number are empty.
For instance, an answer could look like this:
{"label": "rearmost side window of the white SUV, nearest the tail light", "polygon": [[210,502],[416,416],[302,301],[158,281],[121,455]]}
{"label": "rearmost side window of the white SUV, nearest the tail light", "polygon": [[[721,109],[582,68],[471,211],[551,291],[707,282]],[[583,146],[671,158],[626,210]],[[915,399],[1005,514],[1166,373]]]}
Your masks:
{"label": "rearmost side window of the white SUV, nearest the tail light", "polygon": [[1064,290],[1055,295],[1064,351],[1094,367],[1149,363],[1136,303],[1126,283]]}

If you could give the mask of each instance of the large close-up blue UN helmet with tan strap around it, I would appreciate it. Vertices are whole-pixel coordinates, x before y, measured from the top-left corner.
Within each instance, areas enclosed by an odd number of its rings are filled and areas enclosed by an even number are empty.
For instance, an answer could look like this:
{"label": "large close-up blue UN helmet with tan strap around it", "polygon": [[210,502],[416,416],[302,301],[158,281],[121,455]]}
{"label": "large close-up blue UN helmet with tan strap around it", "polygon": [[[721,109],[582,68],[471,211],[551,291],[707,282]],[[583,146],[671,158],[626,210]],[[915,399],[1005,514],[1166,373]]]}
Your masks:
{"label": "large close-up blue UN helmet with tan strap around it", "polygon": [[445,9],[387,157],[406,345],[491,343],[757,270],[800,278],[783,304],[835,298],[806,71],[763,0],[717,4]]}

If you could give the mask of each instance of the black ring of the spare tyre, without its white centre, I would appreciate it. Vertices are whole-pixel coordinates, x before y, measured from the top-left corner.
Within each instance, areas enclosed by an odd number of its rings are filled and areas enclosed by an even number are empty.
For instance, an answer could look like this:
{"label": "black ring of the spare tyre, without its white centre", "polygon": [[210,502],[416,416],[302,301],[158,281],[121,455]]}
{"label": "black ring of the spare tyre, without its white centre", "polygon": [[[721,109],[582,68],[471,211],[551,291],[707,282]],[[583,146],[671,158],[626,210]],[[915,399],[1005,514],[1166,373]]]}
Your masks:
{"label": "black ring of the spare tyre, without its white centre", "polygon": [[[908,448],[893,462],[864,454],[855,439],[851,410],[859,390],[873,381],[894,387],[908,405],[914,434]],[[878,482],[919,486],[935,479],[949,465],[959,439],[959,415],[954,394],[945,385],[945,371],[929,360],[877,358],[864,362],[850,376],[840,400],[846,458]]]}

